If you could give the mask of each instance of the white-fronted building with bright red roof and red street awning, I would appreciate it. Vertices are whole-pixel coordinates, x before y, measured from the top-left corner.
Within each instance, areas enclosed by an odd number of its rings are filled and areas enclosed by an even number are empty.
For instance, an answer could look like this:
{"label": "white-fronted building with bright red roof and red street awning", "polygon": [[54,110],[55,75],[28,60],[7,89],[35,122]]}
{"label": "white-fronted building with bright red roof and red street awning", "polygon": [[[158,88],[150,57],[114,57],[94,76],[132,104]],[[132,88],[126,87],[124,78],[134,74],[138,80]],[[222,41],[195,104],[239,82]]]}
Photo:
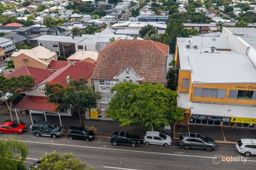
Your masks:
{"label": "white-fronted building with bright red roof and red street awning", "polygon": [[[29,114],[44,114],[45,118],[46,115],[56,116],[58,113],[54,109],[54,105],[47,103],[47,97],[44,92],[45,84],[54,82],[66,85],[70,79],[78,80],[83,78],[90,80],[94,67],[94,64],[88,62],[75,61],[60,68],[37,84],[33,90],[27,91],[26,96],[15,105],[15,109],[28,110]],[[71,110],[60,111],[60,115],[71,116]]]}

